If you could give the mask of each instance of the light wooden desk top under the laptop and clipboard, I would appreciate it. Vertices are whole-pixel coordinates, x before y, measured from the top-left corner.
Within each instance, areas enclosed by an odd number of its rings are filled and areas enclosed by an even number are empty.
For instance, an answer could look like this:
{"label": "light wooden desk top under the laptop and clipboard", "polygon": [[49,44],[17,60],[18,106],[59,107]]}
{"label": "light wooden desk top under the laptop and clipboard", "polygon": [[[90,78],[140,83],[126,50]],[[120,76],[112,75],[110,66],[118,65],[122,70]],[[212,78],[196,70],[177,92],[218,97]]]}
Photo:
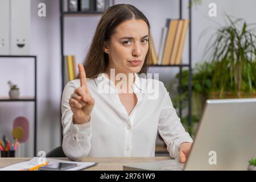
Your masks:
{"label": "light wooden desk top under the laptop and clipboard", "polygon": [[[11,164],[24,162],[30,160],[31,158],[0,158],[0,167],[9,166]],[[68,160],[67,158],[54,158],[60,160]],[[126,164],[141,163],[141,162],[155,162],[160,160],[170,160],[171,157],[123,157],[123,158],[84,158],[81,162],[97,162],[97,166],[90,167],[86,170],[89,171],[122,171],[123,166]]]}

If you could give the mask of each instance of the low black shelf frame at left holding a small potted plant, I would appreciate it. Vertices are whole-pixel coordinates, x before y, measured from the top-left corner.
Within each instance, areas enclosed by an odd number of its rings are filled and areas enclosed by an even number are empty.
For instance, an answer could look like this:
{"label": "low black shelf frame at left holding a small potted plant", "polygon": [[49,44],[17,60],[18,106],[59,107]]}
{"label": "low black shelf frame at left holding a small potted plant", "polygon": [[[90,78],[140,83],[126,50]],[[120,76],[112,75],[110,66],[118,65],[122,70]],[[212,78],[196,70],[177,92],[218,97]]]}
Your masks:
{"label": "low black shelf frame at left holding a small potted plant", "polygon": [[34,98],[18,98],[18,99],[8,99],[0,98],[0,102],[34,102],[34,156],[36,156],[36,143],[37,143],[37,94],[36,94],[36,56],[34,55],[0,55],[0,58],[32,58],[34,59],[34,89],[35,96]]}

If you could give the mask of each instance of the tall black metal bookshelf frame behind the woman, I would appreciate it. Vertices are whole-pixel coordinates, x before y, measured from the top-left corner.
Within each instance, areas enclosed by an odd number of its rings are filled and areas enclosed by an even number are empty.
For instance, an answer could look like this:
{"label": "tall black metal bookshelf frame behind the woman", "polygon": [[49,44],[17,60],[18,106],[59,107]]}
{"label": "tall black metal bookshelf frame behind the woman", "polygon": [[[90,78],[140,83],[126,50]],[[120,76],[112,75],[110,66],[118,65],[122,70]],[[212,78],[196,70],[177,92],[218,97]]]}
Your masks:
{"label": "tall black metal bookshelf frame behind the woman", "polygon": [[[108,0],[110,1],[110,0]],[[188,1],[189,4],[191,4],[191,0]],[[110,5],[110,3],[109,3]],[[112,5],[115,5],[115,1],[112,0]],[[75,17],[76,15],[92,15],[92,14],[102,14],[103,12],[93,12],[93,11],[71,11],[71,12],[67,12],[63,10],[63,0],[60,0],[60,43],[61,43],[61,78],[62,78],[62,90],[64,89],[64,17],[65,16],[72,16]],[[191,121],[192,121],[192,115],[191,115],[191,96],[192,96],[192,61],[191,61],[191,57],[192,57],[192,52],[191,52],[191,6],[188,7],[188,16],[189,16],[189,27],[188,27],[188,64],[174,64],[174,65],[154,65],[154,64],[150,64],[150,67],[169,67],[169,68],[179,68],[179,84],[181,84],[182,81],[182,69],[183,68],[188,68],[189,70],[189,78],[188,78],[188,126],[191,126]],[[179,19],[182,19],[182,0],[179,0]],[[182,94],[182,90],[179,89],[179,94]],[[181,102],[180,102],[180,106],[181,106]],[[182,117],[182,108],[179,108],[179,117]],[[60,125],[61,127],[61,125]],[[62,131],[62,129],[61,129]],[[191,131],[189,131],[189,133],[191,133]],[[62,143],[62,134],[61,134],[61,143]],[[161,152],[161,148],[162,147],[157,147],[158,150]],[[160,149],[159,149],[160,148]],[[162,150],[162,152],[166,152],[167,150]]]}

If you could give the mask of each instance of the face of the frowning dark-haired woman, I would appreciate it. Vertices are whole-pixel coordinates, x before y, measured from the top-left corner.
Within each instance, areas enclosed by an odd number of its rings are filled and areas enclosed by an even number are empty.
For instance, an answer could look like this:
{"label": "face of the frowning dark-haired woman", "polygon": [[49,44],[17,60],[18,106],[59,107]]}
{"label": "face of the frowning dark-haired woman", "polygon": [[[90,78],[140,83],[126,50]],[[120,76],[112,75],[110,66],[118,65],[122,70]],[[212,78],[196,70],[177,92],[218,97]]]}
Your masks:
{"label": "face of the frowning dark-haired woman", "polygon": [[[109,55],[109,68],[115,73],[141,71],[148,51],[148,27],[144,20],[127,20],[115,28],[104,52]],[[134,61],[133,61],[134,60]]]}

